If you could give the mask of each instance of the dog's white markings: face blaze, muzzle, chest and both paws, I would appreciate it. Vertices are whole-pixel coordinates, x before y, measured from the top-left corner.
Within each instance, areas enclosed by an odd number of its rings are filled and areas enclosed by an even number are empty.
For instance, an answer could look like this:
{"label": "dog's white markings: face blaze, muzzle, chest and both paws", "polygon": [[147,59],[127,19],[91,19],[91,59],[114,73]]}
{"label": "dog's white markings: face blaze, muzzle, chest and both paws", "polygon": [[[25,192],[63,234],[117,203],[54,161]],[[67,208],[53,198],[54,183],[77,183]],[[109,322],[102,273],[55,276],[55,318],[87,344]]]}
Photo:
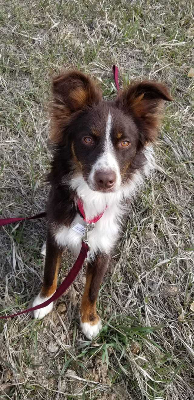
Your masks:
{"label": "dog's white markings: face blaze, muzzle, chest and both paws", "polygon": [[[108,118],[107,122],[107,140],[108,132],[111,130],[111,117]],[[110,150],[110,147],[109,147]],[[119,182],[119,166],[117,171],[117,162],[114,157],[111,159],[112,154],[109,152],[107,154],[107,160],[111,164],[111,168],[115,168],[117,172],[117,182],[118,189],[111,193],[101,193],[93,191],[89,188],[88,184],[83,179],[80,173],[77,173],[73,177],[69,178],[69,186],[75,190],[77,196],[83,202],[83,208],[85,211],[85,216],[87,219],[91,219],[94,216],[101,214],[104,211],[103,216],[95,223],[95,229],[89,232],[89,244],[91,246],[91,251],[88,253],[88,259],[93,260],[96,253],[110,254],[111,250],[114,248],[119,232],[122,227],[123,218],[127,211],[127,202],[131,201],[137,190],[143,184],[143,175],[148,175],[149,171],[154,168],[154,158],[151,146],[148,146],[144,150],[146,157],[146,165],[144,166],[143,172],[135,172],[133,180],[127,184],[121,184]],[[103,156],[104,157],[104,156]],[[100,159],[98,160],[98,162]],[[115,163],[115,164],[114,164]],[[98,164],[95,164],[97,168]],[[110,168],[110,165],[109,165]],[[107,207],[107,208],[106,208]],[[82,236],[75,232],[72,227],[77,223],[85,224],[83,218],[76,213],[75,218],[71,226],[66,227],[64,225],[58,226],[57,229],[53,227],[53,234],[55,241],[62,248],[68,247],[71,252],[77,256],[81,249]],[[51,297],[51,296],[50,296]],[[47,298],[41,298],[40,294],[35,298],[33,306],[40,304],[47,300]],[[36,310],[34,312],[35,318],[43,318],[47,315],[53,308],[53,303],[49,306]],[[95,325],[90,325],[88,322],[82,322],[80,318],[80,327],[83,334],[92,340],[102,328],[101,321]]]}

